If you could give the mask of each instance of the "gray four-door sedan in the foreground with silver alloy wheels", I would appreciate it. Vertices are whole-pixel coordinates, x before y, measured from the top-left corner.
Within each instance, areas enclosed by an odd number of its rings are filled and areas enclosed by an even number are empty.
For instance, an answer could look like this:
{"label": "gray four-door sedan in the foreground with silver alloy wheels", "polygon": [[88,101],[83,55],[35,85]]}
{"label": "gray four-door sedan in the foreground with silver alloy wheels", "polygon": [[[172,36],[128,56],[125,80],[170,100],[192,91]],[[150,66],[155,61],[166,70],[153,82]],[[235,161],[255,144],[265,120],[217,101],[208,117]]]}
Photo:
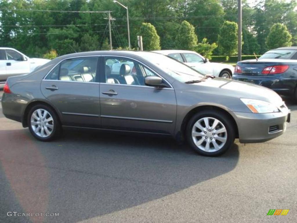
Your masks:
{"label": "gray four-door sedan in the foreground with silver alloy wheels", "polygon": [[[112,61],[122,63],[117,73],[111,73]],[[270,89],[204,76],[143,51],[61,56],[29,75],[9,77],[1,103],[5,117],[41,141],[60,136],[61,126],[154,133],[187,139],[207,156],[224,153],[235,138],[273,139],[290,121],[287,106]]]}

